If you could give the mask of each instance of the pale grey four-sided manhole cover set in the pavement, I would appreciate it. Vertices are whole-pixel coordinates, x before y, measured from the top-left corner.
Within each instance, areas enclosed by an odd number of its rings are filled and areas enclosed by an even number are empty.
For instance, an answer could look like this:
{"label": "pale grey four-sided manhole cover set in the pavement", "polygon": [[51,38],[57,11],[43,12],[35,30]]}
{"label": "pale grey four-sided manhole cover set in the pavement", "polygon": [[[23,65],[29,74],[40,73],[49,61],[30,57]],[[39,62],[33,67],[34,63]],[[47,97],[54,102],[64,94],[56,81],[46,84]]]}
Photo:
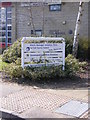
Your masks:
{"label": "pale grey four-sided manhole cover set in the pavement", "polygon": [[88,110],[88,103],[80,101],[69,101],[56,110],[57,113],[80,117],[84,112]]}

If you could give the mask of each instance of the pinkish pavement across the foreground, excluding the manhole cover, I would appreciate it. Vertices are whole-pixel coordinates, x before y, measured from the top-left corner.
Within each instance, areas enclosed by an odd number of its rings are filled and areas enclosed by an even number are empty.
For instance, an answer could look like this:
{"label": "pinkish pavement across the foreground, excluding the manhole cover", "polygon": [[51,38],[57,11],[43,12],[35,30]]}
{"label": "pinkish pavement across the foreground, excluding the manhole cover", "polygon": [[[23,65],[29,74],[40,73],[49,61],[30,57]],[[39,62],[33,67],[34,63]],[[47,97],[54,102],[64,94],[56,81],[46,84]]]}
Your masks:
{"label": "pinkish pavement across the foreground, excluding the manhole cover", "polygon": [[[88,103],[88,89],[61,90],[23,86],[0,80],[0,117],[18,118],[76,118],[56,113],[56,110],[71,100]],[[89,110],[80,118],[89,118]]]}

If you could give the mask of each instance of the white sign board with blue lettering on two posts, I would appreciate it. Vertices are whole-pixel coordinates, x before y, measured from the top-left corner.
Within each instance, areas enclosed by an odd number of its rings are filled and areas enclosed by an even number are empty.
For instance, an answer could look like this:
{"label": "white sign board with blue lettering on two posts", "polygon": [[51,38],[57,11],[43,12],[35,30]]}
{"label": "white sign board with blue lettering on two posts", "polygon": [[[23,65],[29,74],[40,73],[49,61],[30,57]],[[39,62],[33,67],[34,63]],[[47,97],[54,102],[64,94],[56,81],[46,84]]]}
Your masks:
{"label": "white sign board with blue lettering on two posts", "polygon": [[64,38],[26,37],[22,40],[22,67],[65,66]]}

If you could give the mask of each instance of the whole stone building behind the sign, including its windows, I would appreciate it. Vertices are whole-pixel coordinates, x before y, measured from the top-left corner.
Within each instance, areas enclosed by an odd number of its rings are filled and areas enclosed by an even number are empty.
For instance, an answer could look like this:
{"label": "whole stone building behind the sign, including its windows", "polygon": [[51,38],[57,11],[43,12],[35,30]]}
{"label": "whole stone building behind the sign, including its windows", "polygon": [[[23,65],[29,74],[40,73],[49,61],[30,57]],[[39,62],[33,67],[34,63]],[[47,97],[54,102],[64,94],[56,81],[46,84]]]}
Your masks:
{"label": "whole stone building behind the sign, including its windows", "polygon": [[[3,2],[0,4],[0,41],[6,44],[28,36],[69,36],[74,29],[78,2]],[[88,3],[83,5],[80,37],[88,36]]]}

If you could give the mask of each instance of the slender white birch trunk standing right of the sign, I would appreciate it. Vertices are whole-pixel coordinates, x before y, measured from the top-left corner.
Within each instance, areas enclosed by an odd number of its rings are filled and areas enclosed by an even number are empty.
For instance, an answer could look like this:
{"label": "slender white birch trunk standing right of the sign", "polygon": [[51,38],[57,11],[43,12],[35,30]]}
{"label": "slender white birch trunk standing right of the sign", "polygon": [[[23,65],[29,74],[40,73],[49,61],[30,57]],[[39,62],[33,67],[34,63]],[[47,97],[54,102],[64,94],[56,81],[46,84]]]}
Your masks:
{"label": "slender white birch trunk standing right of the sign", "polygon": [[78,50],[78,36],[79,36],[79,30],[81,24],[82,7],[83,7],[83,2],[82,0],[80,0],[79,11],[76,20],[75,32],[74,32],[74,41],[73,41],[73,55],[75,57],[77,56],[77,50]]}

